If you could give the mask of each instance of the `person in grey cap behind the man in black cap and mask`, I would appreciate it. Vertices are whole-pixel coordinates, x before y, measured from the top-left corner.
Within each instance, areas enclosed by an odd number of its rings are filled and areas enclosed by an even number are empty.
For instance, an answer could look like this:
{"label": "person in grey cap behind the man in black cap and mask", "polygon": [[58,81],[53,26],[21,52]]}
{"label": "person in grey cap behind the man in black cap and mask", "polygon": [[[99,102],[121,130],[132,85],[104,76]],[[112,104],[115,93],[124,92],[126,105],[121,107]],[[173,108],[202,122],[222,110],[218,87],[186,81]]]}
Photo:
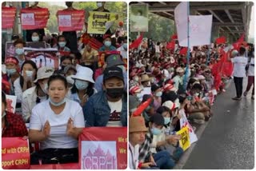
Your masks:
{"label": "person in grey cap behind the man in black cap and mask", "polygon": [[[112,66],[118,66],[119,68],[122,68],[122,75],[125,82],[125,87],[127,87],[127,72],[124,68],[124,62],[122,62],[122,59],[118,54],[112,54],[106,58],[106,68],[112,67]],[[97,89],[97,91],[102,91],[102,84],[103,84],[103,74],[98,76],[98,78],[95,80],[94,88]]]}

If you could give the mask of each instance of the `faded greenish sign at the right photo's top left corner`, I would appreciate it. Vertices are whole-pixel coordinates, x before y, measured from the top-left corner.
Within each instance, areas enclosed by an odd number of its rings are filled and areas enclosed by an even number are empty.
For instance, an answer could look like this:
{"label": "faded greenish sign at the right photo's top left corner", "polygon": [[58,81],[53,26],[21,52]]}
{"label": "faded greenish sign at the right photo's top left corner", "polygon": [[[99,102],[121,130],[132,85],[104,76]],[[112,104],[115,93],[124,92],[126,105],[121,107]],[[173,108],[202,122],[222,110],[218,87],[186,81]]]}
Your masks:
{"label": "faded greenish sign at the right photo's top left corner", "polygon": [[149,7],[145,4],[133,4],[130,6],[130,31],[131,32],[148,32],[149,19],[148,19]]}

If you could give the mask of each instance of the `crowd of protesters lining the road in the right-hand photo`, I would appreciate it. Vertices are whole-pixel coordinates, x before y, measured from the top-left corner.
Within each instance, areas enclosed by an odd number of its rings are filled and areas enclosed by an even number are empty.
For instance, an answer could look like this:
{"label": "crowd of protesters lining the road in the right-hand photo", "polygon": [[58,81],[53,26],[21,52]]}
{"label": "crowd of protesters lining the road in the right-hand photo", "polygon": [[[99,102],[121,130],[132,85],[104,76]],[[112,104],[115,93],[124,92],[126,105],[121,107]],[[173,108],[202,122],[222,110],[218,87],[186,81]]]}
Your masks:
{"label": "crowd of protesters lining the road in the right-hand photo", "polygon": [[[242,99],[243,77],[249,79],[244,96],[254,84],[253,45],[197,46],[190,50],[187,61],[186,48],[178,46],[178,40],[174,42],[170,46],[149,38],[129,50],[132,169],[172,169],[183,153],[178,143],[181,137],[175,134],[181,129],[179,111],[184,109],[190,125],[196,129],[214,116],[214,99],[225,92],[232,78],[237,89],[234,100]],[[254,89],[251,98],[254,99]],[[149,99],[150,103],[142,108]]]}

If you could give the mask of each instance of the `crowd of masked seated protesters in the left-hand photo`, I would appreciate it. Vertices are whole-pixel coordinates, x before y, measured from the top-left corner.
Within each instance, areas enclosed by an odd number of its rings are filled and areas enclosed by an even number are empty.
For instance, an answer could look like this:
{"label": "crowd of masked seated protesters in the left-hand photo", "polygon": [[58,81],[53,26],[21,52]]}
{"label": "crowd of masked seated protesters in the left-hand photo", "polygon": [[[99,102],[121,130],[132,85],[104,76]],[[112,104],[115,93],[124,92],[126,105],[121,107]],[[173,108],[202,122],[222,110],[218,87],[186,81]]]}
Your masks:
{"label": "crowd of masked seated protesters in the left-hand photo", "polygon": [[[66,6],[75,10],[72,2]],[[105,2],[97,6],[97,11],[110,12]],[[37,8],[38,2],[30,7]],[[43,29],[28,32],[26,42],[12,36],[15,54],[2,63],[2,137],[28,137],[30,147],[40,143],[40,149],[30,148],[31,165],[78,162],[83,128],[127,126],[127,38],[120,30],[81,37],[75,31],[48,36]],[[94,49],[90,38],[102,46]],[[58,70],[26,58],[26,43],[42,41],[58,49]],[[99,52],[105,54],[103,62]],[[16,113],[8,110],[7,95],[17,97]]]}

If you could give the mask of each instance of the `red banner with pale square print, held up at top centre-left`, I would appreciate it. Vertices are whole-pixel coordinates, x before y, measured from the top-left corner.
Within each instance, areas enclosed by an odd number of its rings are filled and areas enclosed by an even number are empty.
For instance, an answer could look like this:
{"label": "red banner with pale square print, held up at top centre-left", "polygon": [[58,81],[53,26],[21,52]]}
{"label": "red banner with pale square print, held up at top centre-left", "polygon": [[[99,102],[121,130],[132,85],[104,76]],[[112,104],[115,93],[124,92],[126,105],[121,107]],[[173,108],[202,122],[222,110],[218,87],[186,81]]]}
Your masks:
{"label": "red banner with pale square print, held up at top centre-left", "polygon": [[82,30],[85,23],[84,10],[58,10],[57,16],[59,31]]}

